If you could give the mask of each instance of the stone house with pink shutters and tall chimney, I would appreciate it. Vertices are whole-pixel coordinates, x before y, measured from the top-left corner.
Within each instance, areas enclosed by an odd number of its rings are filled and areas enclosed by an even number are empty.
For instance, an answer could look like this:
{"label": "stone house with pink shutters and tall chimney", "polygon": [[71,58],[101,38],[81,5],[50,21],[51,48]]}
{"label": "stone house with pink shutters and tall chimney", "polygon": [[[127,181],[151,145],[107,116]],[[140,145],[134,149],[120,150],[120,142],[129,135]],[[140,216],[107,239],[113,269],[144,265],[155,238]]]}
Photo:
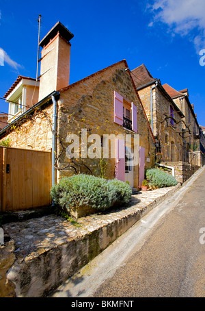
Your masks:
{"label": "stone house with pink shutters and tall chimney", "polygon": [[40,81],[19,76],[5,94],[13,119],[0,140],[9,138],[11,147],[52,149],[53,183],[73,173],[103,171],[137,188],[154,164],[155,140],[126,60],[69,85],[72,38],[58,22],[41,40]]}

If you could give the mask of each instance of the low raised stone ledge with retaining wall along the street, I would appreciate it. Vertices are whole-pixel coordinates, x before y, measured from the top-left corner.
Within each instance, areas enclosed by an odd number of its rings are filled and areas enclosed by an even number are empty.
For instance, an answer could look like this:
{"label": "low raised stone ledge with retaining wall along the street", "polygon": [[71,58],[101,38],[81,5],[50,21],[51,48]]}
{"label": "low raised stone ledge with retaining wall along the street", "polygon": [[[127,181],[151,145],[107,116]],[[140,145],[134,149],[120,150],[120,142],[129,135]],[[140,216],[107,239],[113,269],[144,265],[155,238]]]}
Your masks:
{"label": "low raised stone ledge with retaining wall along the street", "polygon": [[131,206],[124,210],[78,219],[81,227],[56,215],[3,225],[16,246],[16,262],[8,271],[8,280],[16,286],[13,295],[49,295],[180,186],[138,192],[132,196]]}

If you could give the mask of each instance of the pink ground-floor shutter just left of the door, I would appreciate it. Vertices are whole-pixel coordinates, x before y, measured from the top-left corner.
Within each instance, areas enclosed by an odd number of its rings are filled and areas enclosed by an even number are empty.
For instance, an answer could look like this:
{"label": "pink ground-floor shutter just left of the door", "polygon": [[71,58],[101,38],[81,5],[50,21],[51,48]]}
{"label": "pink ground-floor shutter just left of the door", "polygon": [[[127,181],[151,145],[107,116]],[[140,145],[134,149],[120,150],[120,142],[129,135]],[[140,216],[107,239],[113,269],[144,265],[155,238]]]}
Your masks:
{"label": "pink ground-floor shutter just left of the door", "polygon": [[125,147],[124,140],[116,139],[115,178],[125,181]]}

